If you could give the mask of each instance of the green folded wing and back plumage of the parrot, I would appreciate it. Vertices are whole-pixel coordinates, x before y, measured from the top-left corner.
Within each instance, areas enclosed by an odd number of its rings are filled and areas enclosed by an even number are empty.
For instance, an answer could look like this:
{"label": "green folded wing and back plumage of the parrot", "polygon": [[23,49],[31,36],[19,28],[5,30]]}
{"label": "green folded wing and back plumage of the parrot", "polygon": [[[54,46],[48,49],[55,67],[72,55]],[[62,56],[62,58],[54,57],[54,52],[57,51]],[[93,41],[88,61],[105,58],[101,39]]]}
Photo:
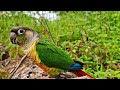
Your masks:
{"label": "green folded wing and back plumage of the parrot", "polygon": [[74,63],[64,50],[45,40],[40,40],[40,43],[36,45],[36,51],[41,62],[48,67],[68,70]]}

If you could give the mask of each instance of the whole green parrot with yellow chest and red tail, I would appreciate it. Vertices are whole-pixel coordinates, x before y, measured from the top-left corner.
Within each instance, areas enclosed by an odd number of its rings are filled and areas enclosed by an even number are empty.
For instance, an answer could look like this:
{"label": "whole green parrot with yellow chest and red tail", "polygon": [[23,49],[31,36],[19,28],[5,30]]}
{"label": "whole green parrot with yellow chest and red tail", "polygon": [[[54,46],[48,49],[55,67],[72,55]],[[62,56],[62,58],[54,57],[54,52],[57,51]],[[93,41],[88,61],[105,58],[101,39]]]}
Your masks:
{"label": "whole green parrot with yellow chest and red tail", "polygon": [[73,60],[67,51],[45,40],[42,35],[26,26],[15,26],[10,30],[10,41],[19,45],[23,52],[42,68],[50,77],[57,77],[65,72],[71,72],[76,77],[88,76],[84,72],[83,63]]}

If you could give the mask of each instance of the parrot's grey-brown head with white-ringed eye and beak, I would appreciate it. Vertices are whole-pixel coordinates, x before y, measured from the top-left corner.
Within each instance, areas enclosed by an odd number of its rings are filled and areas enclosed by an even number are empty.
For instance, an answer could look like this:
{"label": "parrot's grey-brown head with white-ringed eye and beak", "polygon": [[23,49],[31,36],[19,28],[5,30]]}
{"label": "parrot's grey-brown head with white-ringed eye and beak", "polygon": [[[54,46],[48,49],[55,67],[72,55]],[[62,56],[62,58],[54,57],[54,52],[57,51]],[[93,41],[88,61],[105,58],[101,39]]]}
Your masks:
{"label": "parrot's grey-brown head with white-ringed eye and beak", "polygon": [[17,44],[23,49],[29,48],[33,43],[38,41],[40,35],[28,27],[13,27],[10,32],[10,40],[13,44]]}

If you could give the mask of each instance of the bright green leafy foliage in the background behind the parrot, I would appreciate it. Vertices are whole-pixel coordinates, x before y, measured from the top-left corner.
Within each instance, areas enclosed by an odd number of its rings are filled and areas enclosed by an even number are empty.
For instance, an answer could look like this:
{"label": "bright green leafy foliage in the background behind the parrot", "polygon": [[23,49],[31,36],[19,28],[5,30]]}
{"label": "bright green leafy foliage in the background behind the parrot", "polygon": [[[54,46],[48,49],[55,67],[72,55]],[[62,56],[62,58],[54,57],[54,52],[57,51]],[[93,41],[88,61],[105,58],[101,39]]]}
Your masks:
{"label": "bright green leafy foliage in the background behind the parrot", "polygon": [[[120,12],[60,11],[60,20],[46,20],[55,44],[68,51],[74,60],[84,63],[84,70],[96,78],[120,78]],[[49,36],[41,20],[12,11],[0,13],[0,42],[6,49],[13,26],[31,27],[43,38]]]}

